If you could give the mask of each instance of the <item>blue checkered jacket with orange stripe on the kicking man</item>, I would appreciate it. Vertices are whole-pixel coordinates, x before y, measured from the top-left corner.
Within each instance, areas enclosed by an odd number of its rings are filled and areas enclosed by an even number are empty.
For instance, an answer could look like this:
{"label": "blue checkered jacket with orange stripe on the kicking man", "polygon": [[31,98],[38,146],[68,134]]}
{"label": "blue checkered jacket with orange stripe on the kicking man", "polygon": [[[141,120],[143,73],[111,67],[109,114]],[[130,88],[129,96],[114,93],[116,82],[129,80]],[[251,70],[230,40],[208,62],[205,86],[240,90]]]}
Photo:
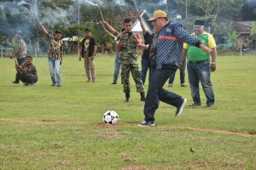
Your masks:
{"label": "blue checkered jacket with orange stripe on the kicking man", "polygon": [[182,59],[183,42],[199,47],[201,42],[192,37],[177,22],[168,23],[158,33],[156,68],[178,68]]}

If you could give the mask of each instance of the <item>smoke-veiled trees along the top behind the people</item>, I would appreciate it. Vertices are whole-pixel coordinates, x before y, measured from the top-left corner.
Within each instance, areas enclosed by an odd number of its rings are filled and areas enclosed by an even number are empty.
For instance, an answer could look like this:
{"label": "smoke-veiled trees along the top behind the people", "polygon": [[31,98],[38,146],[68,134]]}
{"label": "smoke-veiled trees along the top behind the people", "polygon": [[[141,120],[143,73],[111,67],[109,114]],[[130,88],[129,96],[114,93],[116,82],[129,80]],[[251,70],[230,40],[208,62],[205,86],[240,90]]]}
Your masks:
{"label": "smoke-veiled trees along the top behind the people", "polygon": [[[0,0],[0,42],[3,46],[12,44],[10,38],[15,31],[21,29],[25,38],[40,42],[46,46],[44,37],[39,30],[38,23],[31,11],[20,7],[18,0]],[[122,27],[122,20],[128,17],[129,11],[135,10],[133,0],[31,0],[26,1],[38,8],[38,17],[44,25],[53,31],[63,31],[65,37],[83,36],[84,28],[90,27],[97,42],[112,42],[103,29],[99,9],[93,5],[98,3],[102,9],[104,19],[118,30]],[[140,10],[146,9],[152,14],[155,9],[163,9],[171,20],[177,16],[182,19],[189,16],[200,16],[207,20],[212,28],[218,16],[230,20],[255,20],[256,3],[248,0],[136,0]]]}

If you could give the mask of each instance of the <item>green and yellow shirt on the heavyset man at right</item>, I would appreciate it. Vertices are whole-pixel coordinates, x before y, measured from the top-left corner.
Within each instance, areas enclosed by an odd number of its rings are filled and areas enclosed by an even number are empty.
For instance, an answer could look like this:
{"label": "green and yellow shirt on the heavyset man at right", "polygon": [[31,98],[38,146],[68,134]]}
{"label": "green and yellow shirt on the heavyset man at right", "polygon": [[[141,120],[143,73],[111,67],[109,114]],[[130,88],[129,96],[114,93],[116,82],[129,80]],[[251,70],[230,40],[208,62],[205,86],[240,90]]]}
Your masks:
{"label": "green and yellow shirt on the heavyset man at right", "polygon": [[[195,33],[193,33],[192,36],[198,38],[201,41],[201,43],[203,43],[208,48],[216,48],[216,42],[212,37],[212,34],[209,34],[206,31],[204,31],[199,36],[196,36]],[[210,54],[207,54],[201,48],[195,48],[193,46],[190,46],[188,43],[184,43],[183,48],[188,49],[189,61],[196,62],[210,59]]]}

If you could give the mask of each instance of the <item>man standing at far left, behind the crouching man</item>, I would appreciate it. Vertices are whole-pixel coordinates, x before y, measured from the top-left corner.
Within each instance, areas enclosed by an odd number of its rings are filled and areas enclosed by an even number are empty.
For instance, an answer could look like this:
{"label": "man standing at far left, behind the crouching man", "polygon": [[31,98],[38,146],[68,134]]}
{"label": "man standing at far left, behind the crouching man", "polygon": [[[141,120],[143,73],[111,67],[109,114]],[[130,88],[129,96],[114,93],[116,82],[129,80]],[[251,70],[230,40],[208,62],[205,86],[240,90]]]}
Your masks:
{"label": "man standing at far left, behind the crouching man", "polygon": [[[18,65],[21,65],[25,61],[25,57],[26,57],[26,42],[24,42],[20,31],[16,33],[15,39],[16,41],[15,41],[15,50],[14,50],[13,57],[17,59]],[[19,83],[19,82],[20,80],[16,74],[15,81],[13,83]]]}

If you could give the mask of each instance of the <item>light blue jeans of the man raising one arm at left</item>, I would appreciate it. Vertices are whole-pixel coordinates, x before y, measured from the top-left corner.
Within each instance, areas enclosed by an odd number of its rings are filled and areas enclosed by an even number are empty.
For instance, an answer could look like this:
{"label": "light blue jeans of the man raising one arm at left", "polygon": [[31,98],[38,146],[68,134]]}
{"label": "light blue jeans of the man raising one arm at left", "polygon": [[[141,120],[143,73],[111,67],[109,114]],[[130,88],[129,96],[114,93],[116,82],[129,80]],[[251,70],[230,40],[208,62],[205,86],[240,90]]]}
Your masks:
{"label": "light blue jeans of the man raising one arm at left", "polygon": [[[49,60],[49,74],[53,84],[61,84],[61,61],[60,59],[48,59]],[[56,71],[56,78],[55,78]]]}

